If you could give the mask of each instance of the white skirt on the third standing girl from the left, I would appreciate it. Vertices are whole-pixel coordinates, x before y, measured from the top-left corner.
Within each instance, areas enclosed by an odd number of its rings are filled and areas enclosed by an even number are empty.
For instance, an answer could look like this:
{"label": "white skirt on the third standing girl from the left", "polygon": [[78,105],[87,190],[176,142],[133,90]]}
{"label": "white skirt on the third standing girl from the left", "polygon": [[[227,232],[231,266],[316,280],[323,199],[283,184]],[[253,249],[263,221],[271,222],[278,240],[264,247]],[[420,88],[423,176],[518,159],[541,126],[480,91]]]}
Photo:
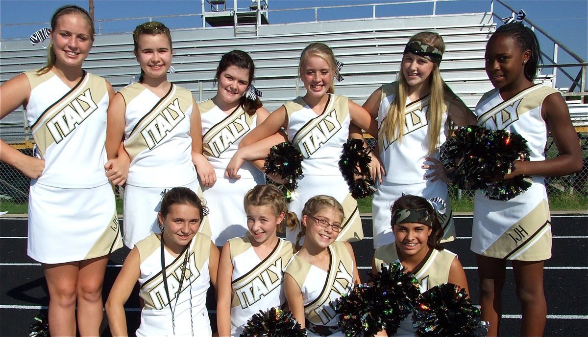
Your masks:
{"label": "white skirt on the third standing girl from the left", "polygon": [[208,215],[199,232],[208,235],[217,247],[223,247],[229,239],[245,235],[248,228],[243,197],[263,183],[262,175],[240,179],[217,176],[214,186],[202,188]]}

